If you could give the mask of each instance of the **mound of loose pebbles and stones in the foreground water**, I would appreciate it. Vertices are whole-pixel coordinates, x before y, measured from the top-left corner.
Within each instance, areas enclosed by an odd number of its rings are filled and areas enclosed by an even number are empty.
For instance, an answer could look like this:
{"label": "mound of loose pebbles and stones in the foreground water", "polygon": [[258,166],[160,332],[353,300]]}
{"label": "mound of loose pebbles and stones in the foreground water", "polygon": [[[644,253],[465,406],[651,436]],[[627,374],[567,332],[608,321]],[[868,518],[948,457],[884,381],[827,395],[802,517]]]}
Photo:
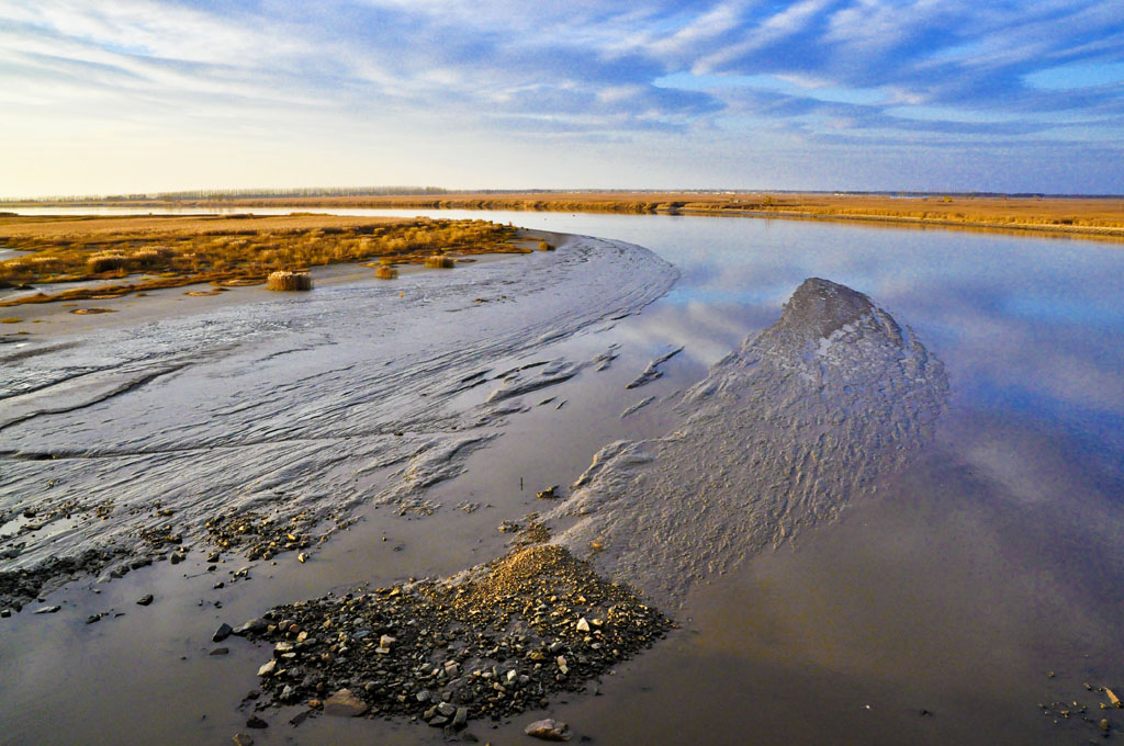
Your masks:
{"label": "mound of loose pebbles and stones in the foreground water", "polygon": [[257,672],[274,704],[324,701],[328,712],[339,702],[332,710],[347,717],[400,716],[455,733],[586,691],[671,621],[564,548],[535,545],[456,582],[300,601],[243,627],[274,644]]}

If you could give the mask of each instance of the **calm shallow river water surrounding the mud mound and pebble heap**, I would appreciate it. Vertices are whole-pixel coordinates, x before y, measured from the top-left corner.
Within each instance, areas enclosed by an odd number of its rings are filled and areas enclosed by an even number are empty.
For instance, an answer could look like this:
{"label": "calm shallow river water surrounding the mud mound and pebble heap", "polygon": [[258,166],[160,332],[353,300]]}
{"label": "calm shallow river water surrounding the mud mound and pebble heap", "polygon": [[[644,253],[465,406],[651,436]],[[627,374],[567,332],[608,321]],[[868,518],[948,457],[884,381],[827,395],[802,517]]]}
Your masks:
{"label": "calm shallow river water surrounding the mud mound and pebble heap", "polygon": [[[868,293],[941,358],[951,390],[935,440],[840,522],[697,589],[679,612],[683,629],[607,677],[605,697],[570,698],[551,713],[599,743],[1070,744],[1098,735],[1076,717],[1054,725],[1036,706],[1077,700],[1099,719],[1082,684],[1124,689],[1124,248],[804,221],[430,215],[627,240],[682,279],[640,316],[555,345],[551,357],[573,361],[613,343],[622,349],[604,374],[544,390],[542,399],[566,407],[514,417],[464,476],[432,490],[493,508],[413,520],[370,510],[307,572],[279,564],[217,592],[206,574],[183,581],[164,564],[99,597],[72,585],[48,599],[72,603],[58,615],[0,620],[0,742],[176,742],[183,733],[225,742],[241,729],[237,700],[266,653],[237,643],[225,659],[206,656],[219,620],[493,556],[501,512],[537,508],[532,490],[572,482],[607,442],[662,435],[670,425],[658,410],[618,415],[701,379],[772,324],[808,276]],[[647,361],[680,345],[662,379],[625,392]],[[144,616],[132,599],[152,589],[166,598]],[[128,616],[82,626],[107,594]],[[221,610],[196,606],[217,598]],[[100,685],[118,671],[112,686]],[[516,743],[531,719],[472,729]],[[271,721],[257,743],[438,740],[410,724],[320,718],[291,730]]]}

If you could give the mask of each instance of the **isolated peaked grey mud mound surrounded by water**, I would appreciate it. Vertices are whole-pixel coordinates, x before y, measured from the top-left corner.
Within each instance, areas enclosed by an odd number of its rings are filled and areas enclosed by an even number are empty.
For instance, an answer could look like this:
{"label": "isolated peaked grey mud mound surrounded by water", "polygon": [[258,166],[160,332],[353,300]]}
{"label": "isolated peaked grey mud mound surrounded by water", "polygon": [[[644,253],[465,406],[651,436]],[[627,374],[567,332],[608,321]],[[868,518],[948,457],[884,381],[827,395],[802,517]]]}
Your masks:
{"label": "isolated peaked grey mud mound surrounded by water", "polygon": [[674,431],[607,445],[547,522],[577,518],[559,543],[674,606],[900,468],[946,394],[943,365],[908,327],[809,279],[674,402]]}

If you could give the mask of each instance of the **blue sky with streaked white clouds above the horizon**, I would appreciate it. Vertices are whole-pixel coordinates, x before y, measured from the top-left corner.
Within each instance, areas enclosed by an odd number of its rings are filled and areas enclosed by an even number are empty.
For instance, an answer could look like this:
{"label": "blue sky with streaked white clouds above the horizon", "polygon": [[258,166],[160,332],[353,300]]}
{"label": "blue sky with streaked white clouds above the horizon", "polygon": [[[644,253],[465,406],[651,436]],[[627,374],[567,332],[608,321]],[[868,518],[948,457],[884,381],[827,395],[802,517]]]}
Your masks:
{"label": "blue sky with streaked white clouds above the horizon", "polygon": [[0,0],[0,197],[1124,193],[1124,0]]}

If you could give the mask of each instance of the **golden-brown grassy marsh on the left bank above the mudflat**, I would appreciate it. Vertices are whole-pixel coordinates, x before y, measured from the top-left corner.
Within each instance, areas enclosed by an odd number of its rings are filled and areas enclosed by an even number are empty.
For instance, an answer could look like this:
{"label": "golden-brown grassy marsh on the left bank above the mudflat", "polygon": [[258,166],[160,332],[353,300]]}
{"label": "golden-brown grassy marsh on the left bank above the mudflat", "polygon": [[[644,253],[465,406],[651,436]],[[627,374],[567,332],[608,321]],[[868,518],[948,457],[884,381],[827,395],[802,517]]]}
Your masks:
{"label": "golden-brown grassy marsh on the left bank above the mudflat", "polygon": [[[0,286],[103,281],[0,306],[117,297],[199,282],[247,285],[274,272],[378,260],[423,264],[445,253],[527,253],[516,230],[484,220],[401,220],[324,215],[0,217]],[[118,281],[118,282],[114,282]]]}

